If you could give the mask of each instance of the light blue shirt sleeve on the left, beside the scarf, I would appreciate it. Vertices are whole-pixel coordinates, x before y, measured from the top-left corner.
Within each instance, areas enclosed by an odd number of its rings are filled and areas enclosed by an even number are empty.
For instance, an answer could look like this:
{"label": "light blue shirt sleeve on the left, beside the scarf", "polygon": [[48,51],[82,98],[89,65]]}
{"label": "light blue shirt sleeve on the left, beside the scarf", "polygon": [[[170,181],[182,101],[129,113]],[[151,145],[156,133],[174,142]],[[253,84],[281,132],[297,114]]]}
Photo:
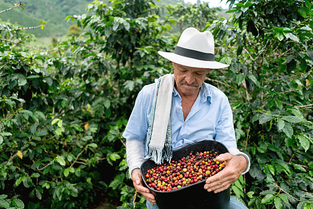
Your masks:
{"label": "light blue shirt sleeve on the left, beside the scarf", "polygon": [[143,92],[140,91],[122,136],[128,140],[144,141],[147,129],[147,113],[143,102]]}

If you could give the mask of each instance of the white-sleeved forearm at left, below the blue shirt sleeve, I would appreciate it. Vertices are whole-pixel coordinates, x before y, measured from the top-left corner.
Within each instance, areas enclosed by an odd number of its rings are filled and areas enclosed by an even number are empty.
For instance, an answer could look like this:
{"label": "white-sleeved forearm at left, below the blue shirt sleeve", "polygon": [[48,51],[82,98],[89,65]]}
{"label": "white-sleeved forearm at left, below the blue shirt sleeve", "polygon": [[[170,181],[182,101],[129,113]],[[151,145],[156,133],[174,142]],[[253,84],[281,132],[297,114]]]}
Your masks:
{"label": "white-sleeved forearm at left, below the blue shirt sleeve", "polygon": [[129,168],[129,175],[131,172],[140,168],[141,164],[145,161],[145,148],[144,141],[126,140],[126,160]]}

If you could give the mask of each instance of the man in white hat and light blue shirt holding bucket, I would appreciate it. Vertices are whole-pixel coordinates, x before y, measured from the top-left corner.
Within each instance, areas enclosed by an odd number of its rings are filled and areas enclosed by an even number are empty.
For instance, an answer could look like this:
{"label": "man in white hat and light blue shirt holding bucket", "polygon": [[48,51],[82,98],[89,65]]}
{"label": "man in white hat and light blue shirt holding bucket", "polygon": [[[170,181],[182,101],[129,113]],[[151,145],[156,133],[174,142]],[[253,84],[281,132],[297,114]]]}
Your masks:
{"label": "man in white hat and light blue shirt holding bucket", "polygon": [[[219,155],[217,160],[225,161],[226,167],[208,178],[204,189],[214,193],[227,190],[241,174],[249,171],[250,161],[247,155],[237,149],[232,111],[227,96],[204,80],[211,69],[225,68],[229,65],[214,61],[212,34],[209,31],[199,32],[195,28],[184,30],[174,53],[159,51],[159,54],[172,61],[174,68],[173,88],[169,89],[171,99],[164,102],[169,106],[170,112],[168,126],[171,130],[171,148],[177,150],[202,140],[223,143],[230,153]],[[152,83],[139,92],[123,133],[123,137],[126,138],[129,173],[136,190],[147,199],[148,208],[158,207],[153,205],[154,196],[143,186],[139,168],[145,157],[151,159],[153,157],[150,144],[154,139],[151,139],[149,123],[151,115],[154,117],[153,110],[157,109],[153,102],[157,95],[155,92],[159,91],[158,86]],[[164,117],[166,116],[165,111]],[[158,118],[154,118],[154,123],[156,120],[158,121]],[[161,150],[162,148],[163,145]],[[247,208],[234,198],[231,198],[230,205],[230,208]]]}

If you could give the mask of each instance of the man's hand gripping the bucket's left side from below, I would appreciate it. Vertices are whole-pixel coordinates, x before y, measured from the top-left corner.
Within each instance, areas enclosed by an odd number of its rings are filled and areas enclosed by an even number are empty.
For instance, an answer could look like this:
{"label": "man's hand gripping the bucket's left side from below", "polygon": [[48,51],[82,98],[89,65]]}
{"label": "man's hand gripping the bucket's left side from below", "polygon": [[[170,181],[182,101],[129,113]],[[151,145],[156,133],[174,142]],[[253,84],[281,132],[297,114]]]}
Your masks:
{"label": "man's hand gripping the bucket's left side from below", "polygon": [[146,198],[146,200],[148,200],[149,202],[155,203],[155,197],[150,193],[147,187],[143,186],[139,169],[132,171],[131,179],[132,179],[133,186],[135,186],[136,191],[142,194]]}

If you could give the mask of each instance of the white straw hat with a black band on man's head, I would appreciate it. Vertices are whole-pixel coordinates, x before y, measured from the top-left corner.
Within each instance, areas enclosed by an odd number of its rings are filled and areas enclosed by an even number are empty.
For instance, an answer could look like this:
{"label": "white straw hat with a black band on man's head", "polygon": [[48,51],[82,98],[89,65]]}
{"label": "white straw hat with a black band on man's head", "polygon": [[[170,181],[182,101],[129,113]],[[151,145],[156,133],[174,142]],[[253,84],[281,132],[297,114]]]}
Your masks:
{"label": "white straw hat with a black band on man's head", "polygon": [[229,65],[214,60],[214,39],[210,31],[199,32],[195,28],[183,31],[174,52],[158,53],[177,64],[194,67],[219,69]]}

